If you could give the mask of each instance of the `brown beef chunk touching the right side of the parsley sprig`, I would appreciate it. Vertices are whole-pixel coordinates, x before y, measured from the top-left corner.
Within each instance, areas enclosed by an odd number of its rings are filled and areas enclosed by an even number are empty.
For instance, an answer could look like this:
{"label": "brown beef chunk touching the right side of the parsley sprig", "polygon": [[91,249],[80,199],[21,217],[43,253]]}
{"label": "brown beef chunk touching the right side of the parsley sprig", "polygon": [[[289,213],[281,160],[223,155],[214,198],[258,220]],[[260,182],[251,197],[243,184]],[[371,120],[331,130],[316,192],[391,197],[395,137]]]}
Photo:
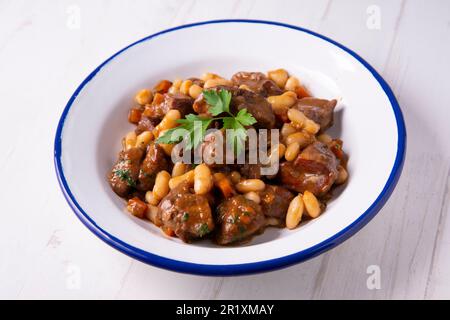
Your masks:
{"label": "brown beef chunk touching the right side of the parsley sprig", "polygon": [[244,108],[256,119],[255,128],[272,129],[275,126],[272,106],[260,94],[248,90],[238,90],[231,99],[231,111],[237,113]]}

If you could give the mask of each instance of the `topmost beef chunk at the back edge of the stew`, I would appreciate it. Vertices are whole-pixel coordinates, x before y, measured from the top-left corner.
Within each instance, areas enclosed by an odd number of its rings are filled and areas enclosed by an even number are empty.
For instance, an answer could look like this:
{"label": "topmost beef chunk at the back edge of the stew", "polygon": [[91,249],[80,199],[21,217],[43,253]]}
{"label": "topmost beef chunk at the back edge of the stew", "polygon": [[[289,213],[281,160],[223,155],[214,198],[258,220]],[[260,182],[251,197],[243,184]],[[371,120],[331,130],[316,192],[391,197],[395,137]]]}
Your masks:
{"label": "topmost beef chunk at the back edge of the stew", "polygon": [[245,72],[241,71],[235,73],[231,77],[237,86],[246,85],[251,91],[261,94],[264,97],[277,96],[283,93],[275,82],[266,77],[265,74],[261,72]]}

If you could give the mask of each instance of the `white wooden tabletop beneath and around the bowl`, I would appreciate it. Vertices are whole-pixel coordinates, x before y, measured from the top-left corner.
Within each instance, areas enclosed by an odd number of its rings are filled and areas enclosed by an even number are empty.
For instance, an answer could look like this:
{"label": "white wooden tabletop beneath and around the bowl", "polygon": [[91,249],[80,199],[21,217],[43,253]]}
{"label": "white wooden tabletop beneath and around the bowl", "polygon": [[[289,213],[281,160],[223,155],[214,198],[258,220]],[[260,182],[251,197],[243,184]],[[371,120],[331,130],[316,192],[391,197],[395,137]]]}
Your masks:
{"label": "white wooden tabletop beneath and around the bowl", "polygon": [[[104,59],[156,31],[223,18],[303,26],[358,52],[399,99],[408,151],[387,205],[344,244],[281,271],[211,278],[98,240],[66,204],[52,153],[63,107]],[[0,298],[450,298],[449,57],[447,0],[0,0]]]}

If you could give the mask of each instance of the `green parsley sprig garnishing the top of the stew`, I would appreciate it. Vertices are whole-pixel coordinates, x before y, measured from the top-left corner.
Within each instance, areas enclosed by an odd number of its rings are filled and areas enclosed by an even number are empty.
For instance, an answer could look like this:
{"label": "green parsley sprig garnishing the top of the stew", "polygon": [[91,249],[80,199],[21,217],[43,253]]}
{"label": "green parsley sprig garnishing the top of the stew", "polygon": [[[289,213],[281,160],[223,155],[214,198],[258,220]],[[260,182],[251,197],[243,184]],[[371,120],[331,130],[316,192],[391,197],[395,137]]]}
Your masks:
{"label": "green parsley sprig garnishing the top of the stew", "polygon": [[[203,90],[203,97],[209,105],[208,112],[211,118],[202,117],[195,114],[188,114],[185,119],[177,120],[180,126],[167,130],[156,143],[175,144],[184,139],[185,134],[189,135],[185,148],[190,150],[197,148],[203,141],[206,130],[212,121],[221,120],[224,129],[227,131],[227,143],[234,146],[236,154],[239,155],[244,148],[247,139],[245,126],[256,123],[256,119],[247,111],[246,108],[239,110],[236,115],[230,112],[231,92],[221,89]],[[219,115],[224,115],[217,117]]]}

